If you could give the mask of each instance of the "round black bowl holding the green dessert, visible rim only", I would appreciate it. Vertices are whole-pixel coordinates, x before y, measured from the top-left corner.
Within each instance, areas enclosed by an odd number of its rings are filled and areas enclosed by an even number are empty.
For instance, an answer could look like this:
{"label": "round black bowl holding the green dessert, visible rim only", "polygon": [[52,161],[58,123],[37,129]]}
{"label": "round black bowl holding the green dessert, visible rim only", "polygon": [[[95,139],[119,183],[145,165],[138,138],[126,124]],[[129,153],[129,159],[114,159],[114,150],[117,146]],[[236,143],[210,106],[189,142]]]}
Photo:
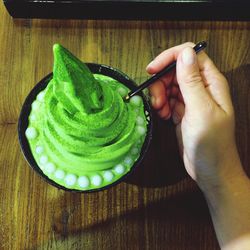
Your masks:
{"label": "round black bowl holding the green dessert, visible rim only", "polygon": [[[106,65],[102,65],[102,64],[95,64],[95,63],[87,63],[87,66],[89,67],[90,71],[94,74],[101,74],[101,75],[106,75],[109,77],[112,77],[113,79],[121,82],[122,84],[124,84],[125,86],[127,86],[129,89],[134,90],[136,88],[136,84],[134,83],[134,81],[132,79],[130,79],[127,75],[125,75],[124,73],[122,73],[121,71],[114,69],[110,66],[106,66]],[[97,189],[90,189],[90,190],[76,190],[76,189],[69,189],[66,188],[56,182],[54,182],[53,180],[49,179],[43,172],[42,170],[39,168],[39,166],[37,165],[28,140],[25,136],[25,131],[28,127],[28,123],[29,123],[29,114],[31,112],[31,104],[32,102],[35,100],[37,94],[39,92],[41,92],[43,89],[46,88],[46,86],[48,85],[49,81],[52,79],[53,74],[50,73],[49,75],[47,75],[46,77],[44,77],[32,90],[31,92],[28,94],[27,98],[24,101],[20,116],[19,116],[19,120],[18,120],[18,138],[19,138],[19,143],[21,145],[22,148],[22,152],[26,158],[26,160],[28,161],[29,165],[43,178],[45,179],[49,184],[66,190],[66,191],[74,191],[74,192],[93,192],[93,191],[100,191],[103,189],[107,189],[111,186],[114,186],[118,183],[120,183],[122,180],[124,180],[125,177],[127,177],[129,174],[131,174],[131,172],[135,169],[135,167],[139,166],[142,159],[144,158],[151,139],[152,139],[152,112],[151,112],[151,108],[150,105],[146,99],[146,97],[144,96],[144,94],[140,94],[140,96],[143,99],[143,103],[144,103],[144,110],[147,111],[147,120],[148,120],[148,125],[147,125],[147,135],[145,137],[144,140],[144,144],[141,148],[141,154],[140,157],[137,159],[137,161],[134,163],[134,165],[131,167],[130,171],[125,174],[124,176],[122,176],[119,180],[105,186],[105,187],[101,187],[101,188],[97,188]]]}

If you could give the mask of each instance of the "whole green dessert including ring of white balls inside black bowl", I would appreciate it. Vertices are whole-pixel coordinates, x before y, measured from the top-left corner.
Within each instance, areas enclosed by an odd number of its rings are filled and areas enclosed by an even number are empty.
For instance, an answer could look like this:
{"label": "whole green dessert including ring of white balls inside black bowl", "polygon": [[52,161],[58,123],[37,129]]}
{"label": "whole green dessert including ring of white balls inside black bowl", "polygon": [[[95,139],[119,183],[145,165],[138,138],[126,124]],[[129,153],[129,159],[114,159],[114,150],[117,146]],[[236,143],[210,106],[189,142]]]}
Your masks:
{"label": "whole green dessert including ring of white balls inside black bowl", "polygon": [[147,119],[140,96],[115,79],[92,74],[54,45],[53,78],[31,105],[26,129],[34,159],[49,179],[68,189],[116,182],[139,158]]}

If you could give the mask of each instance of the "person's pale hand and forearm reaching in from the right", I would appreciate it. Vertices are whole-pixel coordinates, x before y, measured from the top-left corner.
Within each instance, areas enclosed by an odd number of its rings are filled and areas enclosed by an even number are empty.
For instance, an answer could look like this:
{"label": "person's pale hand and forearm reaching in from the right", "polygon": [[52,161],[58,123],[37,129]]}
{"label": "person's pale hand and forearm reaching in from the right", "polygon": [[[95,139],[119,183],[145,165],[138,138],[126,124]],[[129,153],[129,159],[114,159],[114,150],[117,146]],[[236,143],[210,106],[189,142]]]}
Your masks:
{"label": "person's pale hand and forearm reaching in from the right", "polygon": [[148,66],[155,74],[173,61],[176,71],[150,87],[152,106],[176,125],[188,174],[202,190],[221,249],[250,249],[250,180],[235,143],[228,82],[193,43],[162,52]]}

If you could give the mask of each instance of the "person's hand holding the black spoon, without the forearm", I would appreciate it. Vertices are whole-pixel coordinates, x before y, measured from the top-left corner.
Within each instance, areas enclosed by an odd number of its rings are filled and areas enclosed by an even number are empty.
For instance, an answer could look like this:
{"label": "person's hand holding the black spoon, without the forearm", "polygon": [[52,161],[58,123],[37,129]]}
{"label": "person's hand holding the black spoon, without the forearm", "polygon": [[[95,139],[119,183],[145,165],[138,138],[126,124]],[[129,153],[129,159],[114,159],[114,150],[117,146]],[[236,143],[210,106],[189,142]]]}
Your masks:
{"label": "person's hand holding the black spoon, without the forearm", "polygon": [[242,171],[234,138],[234,110],[227,80],[194,44],[168,49],[147,67],[155,74],[177,61],[176,72],[150,87],[158,114],[172,116],[180,153],[189,175],[201,189],[217,186]]}

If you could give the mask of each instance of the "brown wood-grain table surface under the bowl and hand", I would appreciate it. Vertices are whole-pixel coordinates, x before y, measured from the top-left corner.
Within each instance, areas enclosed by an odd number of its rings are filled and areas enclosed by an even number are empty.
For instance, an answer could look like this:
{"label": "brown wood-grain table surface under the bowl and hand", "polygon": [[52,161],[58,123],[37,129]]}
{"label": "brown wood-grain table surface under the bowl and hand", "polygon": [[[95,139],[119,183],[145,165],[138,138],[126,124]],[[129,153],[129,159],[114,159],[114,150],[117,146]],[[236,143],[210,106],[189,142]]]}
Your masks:
{"label": "brown wood-grain table surface under the bowl and hand", "polygon": [[219,249],[205,200],[178,156],[171,121],[155,118],[138,170],[109,190],[75,194],[45,183],[21,153],[17,120],[52,70],[52,45],[112,65],[136,82],[158,53],[207,40],[230,81],[240,156],[250,175],[250,23],[12,20],[0,4],[0,249]]}

